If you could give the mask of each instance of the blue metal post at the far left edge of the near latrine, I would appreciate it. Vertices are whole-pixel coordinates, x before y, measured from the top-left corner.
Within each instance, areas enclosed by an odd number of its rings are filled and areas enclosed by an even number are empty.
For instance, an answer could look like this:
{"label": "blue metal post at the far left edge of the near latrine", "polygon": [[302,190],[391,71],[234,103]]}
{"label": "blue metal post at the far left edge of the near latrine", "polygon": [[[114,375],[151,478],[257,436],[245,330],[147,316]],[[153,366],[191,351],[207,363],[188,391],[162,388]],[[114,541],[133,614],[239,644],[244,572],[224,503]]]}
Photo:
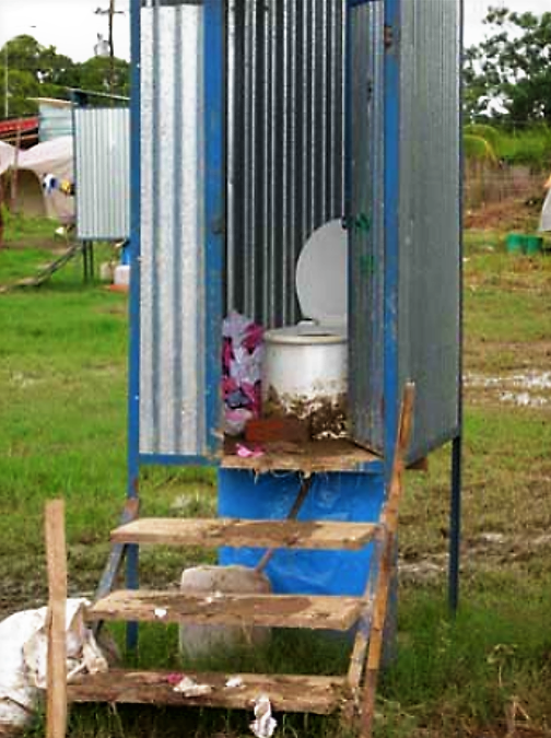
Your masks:
{"label": "blue metal post at the far left edge of the near latrine", "polygon": [[[131,89],[130,101],[130,337],[129,337],[129,367],[128,367],[128,497],[139,496],[139,450],[140,450],[140,237],[141,237],[141,73],[140,73],[140,43],[141,43],[141,0],[132,0],[130,14],[130,47],[131,47]],[[138,589],[138,558],[137,546],[129,546],[127,550],[127,587]],[[138,628],[129,623],[127,628],[127,646],[134,648],[138,643]]]}

